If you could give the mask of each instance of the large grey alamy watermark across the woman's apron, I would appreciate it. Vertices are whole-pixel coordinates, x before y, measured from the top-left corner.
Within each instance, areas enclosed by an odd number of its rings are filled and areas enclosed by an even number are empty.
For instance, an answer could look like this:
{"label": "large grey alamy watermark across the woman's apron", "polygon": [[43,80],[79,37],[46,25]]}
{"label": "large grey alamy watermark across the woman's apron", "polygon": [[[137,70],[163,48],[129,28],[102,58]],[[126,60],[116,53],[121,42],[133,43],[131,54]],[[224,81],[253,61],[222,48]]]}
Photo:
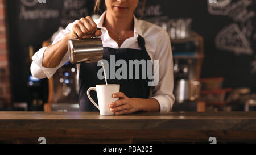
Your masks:
{"label": "large grey alamy watermark across the woman's apron", "polygon": [[[119,59],[115,62],[115,56],[110,55],[110,64],[107,60],[98,61],[97,66],[101,66],[101,63],[104,63],[106,70],[106,78],[107,79],[149,79],[151,81],[148,82],[148,86],[156,86],[159,82],[159,60],[154,60],[154,64],[152,60],[129,60],[128,64],[125,60]],[[118,68],[115,71],[115,66]],[[127,70],[127,66],[129,70]],[[140,67],[141,66],[141,67]],[[152,70],[152,66],[154,66],[154,72]],[[110,68],[110,74],[109,74]],[[141,69],[141,70],[140,70]],[[141,71],[141,72],[140,72]],[[153,73],[152,73],[153,72]],[[129,76],[127,76],[129,73]],[[109,78],[110,75],[110,78]],[[98,79],[104,79],[104,69],[101,68],[97,73]]]}

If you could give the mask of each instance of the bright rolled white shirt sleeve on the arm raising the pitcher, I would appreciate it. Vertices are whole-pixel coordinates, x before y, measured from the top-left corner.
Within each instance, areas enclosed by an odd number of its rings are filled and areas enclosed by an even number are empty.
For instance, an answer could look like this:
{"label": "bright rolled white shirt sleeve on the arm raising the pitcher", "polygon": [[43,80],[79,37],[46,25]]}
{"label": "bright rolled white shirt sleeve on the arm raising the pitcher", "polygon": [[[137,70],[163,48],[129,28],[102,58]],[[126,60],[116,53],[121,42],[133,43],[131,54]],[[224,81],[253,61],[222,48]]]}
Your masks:
{"label": "bright rolled white shirt sleeve on the arm raising the pitcher", "polygon": [[[61,39],[63,39],[65,35],[67,35],[67,33],[71,32],[74,23],[68,24],[68,26],[64,30],[61,30],[60,33],[53,40],[52,45],[57,43]],[[43,66],[43,55],[44,55],[44,51],[46,51],[46,48],[47,47],[43,47],[39,49],[39,51],[36,52],[32,57],[33,62],[30,66],[30,70],[31,70],[32,76],[36,78],[40,78],[40,79],[46,78],[46,77],[51,78],[53,74],[55,74],[57,69],[61,68],[61,66],[63,66],[69,60],[69,54],[67,52],[63,57],[63,60],[60,62],[59,66],[57,66],[56,68],[45,68]]]}

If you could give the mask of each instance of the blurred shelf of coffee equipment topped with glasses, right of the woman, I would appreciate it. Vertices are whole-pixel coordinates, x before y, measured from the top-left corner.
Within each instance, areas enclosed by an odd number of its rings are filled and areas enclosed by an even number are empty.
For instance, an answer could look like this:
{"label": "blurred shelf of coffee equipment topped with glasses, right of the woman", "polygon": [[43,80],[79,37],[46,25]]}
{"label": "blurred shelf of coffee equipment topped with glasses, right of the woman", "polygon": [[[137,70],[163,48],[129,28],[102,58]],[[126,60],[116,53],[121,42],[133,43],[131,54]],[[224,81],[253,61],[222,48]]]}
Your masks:
{"label": "blurred shelf of coffee equipment topped with glasses, right of the woman", "polygon": [[170,19],[168,33],[174,58],[174,95],[178,104],[196,102],[200,96],[203,37],[191,31],[191,18]]}

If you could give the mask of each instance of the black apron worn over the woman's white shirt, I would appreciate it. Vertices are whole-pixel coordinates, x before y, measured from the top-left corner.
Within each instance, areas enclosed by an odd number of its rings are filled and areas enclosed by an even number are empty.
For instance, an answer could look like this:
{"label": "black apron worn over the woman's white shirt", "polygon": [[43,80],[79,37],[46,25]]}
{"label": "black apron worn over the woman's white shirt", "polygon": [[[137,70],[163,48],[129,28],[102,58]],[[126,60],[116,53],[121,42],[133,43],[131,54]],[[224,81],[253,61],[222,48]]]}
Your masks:
{"label": "black apron worn over the woman's white shirt", "polygon": [[[109,73],[110,73],[110,55],[115,56],[115,62],[117,60],[125,60],[127,64],[127,79],[108,79],[108,84],[119,84],[120,92],[125,93],[125,95],[129,98],[148,98],[150,94],[150,86],[148,86],[148,82],[150,79],[142,79],[142,68],[140,65],[140,78],[135,79],[135,68],[133,69],[133,79],[129,79],[129,60],[151,60],[145,48],[145,41],[141,36],[138,36],[138,44],[141,47],[141,50],[138,49],[130,49],[130,48],[109,48],[104,47],[103,59],[109,62]],[[105,84],[105,79],[98,79],[97,73],[102,67],[97,66],[97,62],[95,63],[81,63],[80,64],[80,72],[79,72],[79,108],[80,111],[99,111],[89,100],[87,97],[87,90],[89,87],[95,87],[96,85]],[[115,71],[120,67],[115,67]],[[152,73],[152,72],[151,72]],[[108,74],[108,73],[107,73]],[[147,72],[146,72],[147,75]],[[98,103],[97,94],[95,91],[90,91],[90,96],[92,99]]]}

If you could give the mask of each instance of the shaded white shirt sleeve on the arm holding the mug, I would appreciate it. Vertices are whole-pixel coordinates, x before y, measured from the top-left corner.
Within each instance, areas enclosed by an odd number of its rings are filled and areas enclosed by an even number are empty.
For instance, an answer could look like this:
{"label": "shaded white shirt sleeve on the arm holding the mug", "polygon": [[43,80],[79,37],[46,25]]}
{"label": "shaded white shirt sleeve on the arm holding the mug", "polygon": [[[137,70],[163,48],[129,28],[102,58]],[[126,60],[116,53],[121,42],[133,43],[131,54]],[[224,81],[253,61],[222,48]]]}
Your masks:
{"label": "shaded white shirt sleeve on the arm holding the mug", "polygon": [[171,41],[168,33],[162,31],[159,33],[158,47],[154,60],[159,60],[159,65],[154,66],[159,68],[159,82],[152,89],[152,95],[150,98],[158,100],[160,105],[160,112],[169,112],[175,101],[173,94],[174,90],[174,73],[173,73],[173,60],[172,60],[172,49]]}

